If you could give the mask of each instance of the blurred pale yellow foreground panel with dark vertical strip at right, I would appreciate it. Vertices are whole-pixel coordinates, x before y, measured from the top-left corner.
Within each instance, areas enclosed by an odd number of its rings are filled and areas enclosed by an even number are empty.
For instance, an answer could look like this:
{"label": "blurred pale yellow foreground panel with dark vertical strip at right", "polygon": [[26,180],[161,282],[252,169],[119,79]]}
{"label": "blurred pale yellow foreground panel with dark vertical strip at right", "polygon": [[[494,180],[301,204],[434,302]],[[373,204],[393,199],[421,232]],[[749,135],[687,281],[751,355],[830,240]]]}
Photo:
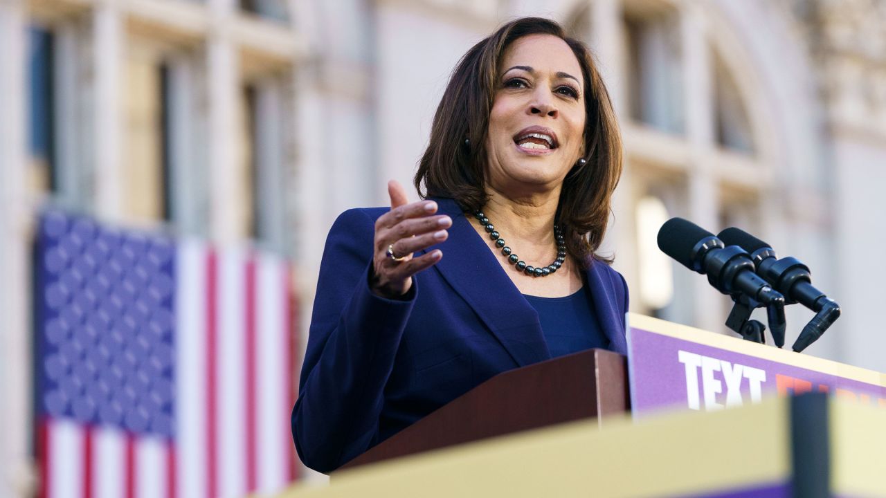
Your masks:
{"label": "blurred pale yellow foreground panel with dark vertical strip at right", "polygon": [[367,465],[283,496],[883,496],[886,410],[808,393],[577,422]]}

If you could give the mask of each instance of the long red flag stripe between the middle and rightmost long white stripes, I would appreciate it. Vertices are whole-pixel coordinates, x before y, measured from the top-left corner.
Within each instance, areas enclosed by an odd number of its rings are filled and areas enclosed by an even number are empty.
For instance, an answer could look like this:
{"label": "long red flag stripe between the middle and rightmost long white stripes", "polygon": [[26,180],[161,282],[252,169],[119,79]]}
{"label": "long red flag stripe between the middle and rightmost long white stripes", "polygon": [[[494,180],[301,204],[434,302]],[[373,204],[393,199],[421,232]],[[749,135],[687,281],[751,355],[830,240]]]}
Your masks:
{"label": "long red flag stripe between the middle and rightmost long white stripes", "polygon": [[256,298],[255,286],[255,256],[250,254],[246,261],[246,402],[245,402],[245,437],[246,437],[246,491],[252,493],[258,485],[258,428],[256,389],[258,388],[258,365],[256,362]]}

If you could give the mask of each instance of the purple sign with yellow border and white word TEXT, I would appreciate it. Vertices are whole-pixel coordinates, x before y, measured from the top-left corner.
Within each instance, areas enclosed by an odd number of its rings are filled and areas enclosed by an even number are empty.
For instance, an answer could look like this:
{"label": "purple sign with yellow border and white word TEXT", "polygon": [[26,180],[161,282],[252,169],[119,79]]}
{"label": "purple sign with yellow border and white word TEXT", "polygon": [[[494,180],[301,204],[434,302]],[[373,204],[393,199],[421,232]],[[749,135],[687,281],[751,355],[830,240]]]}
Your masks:
{"label": "purple sign with yellow border and white word TEXT", "polygon": [[628,370],[633,414],[659,409],[722,409],[767,395],[823,391],[886,408],[886,376],[629,315]]}

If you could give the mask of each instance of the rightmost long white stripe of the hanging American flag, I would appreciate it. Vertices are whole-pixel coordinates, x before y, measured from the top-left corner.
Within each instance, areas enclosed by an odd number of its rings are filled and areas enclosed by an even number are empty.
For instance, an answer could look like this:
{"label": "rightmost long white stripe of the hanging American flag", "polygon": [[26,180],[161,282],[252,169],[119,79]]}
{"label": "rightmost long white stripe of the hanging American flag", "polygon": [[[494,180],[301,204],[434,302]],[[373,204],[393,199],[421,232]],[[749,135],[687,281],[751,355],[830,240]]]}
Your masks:
{"label": "rightmost long white stripe of the hanging American flag", "polygon": [[274,257],[265,256],[257,268],[257,352],[260,358],[257,377],[258,416],[258,487],[260,493],[279,491],[285,484],[285,455],[281,440],[288,438],[282,433],[288,409],[286,399],[278,388],[284,379],[284,358],[288,342],[284,341],[284,310],[286,293],[283,292],[284,265]]}

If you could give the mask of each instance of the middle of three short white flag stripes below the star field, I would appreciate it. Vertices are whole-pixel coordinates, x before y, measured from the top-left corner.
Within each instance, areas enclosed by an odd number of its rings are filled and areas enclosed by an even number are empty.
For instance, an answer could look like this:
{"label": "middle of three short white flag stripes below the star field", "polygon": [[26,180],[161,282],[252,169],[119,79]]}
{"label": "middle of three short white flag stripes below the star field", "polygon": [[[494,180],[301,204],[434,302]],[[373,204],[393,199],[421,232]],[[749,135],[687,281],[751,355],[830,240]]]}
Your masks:
{"label": "middle of three short white flag stripes below the star field", "polygon": [[109,427],[92,432],[92,494],[119,498],[126,494],[126,436]]}

